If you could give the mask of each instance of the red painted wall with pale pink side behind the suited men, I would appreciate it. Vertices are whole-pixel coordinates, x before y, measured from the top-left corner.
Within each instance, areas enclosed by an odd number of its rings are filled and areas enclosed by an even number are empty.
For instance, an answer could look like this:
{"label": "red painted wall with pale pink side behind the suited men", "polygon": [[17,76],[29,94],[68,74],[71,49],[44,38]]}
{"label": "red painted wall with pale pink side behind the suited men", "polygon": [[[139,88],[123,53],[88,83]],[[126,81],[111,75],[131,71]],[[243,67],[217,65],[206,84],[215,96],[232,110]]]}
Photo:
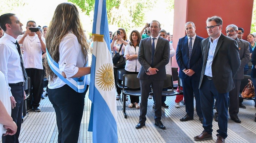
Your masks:
{"label": "red painted wall with pale pink side behind the suited men", "polygon": [[[226,35],[226,27],[235,24],[245,30],[243,39],[250,32],[252,20],[253,0],[175,0],[174,1],[174,30],[173,47],[176,50],[179,38],[186,35],[185,23],[195,23],[195,33],[207,38],[205,29],[206,20],[214,15],[223,20],[222,33]],[[178,67],[175,56],[172,58],[172,66]]]}

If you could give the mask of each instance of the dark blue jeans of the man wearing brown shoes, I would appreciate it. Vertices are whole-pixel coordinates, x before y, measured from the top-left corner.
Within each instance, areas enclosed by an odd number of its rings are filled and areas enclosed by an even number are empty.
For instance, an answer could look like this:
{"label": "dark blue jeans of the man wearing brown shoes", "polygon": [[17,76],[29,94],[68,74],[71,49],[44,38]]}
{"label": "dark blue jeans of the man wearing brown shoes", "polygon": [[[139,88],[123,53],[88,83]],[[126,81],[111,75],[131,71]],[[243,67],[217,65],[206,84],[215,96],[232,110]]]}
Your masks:
{"label": "dark blue jeans of the man wearing brown shoes", "polygon": [[199,89],[202,113],[204,117],[203,128],[208,134],[212,134],[213,104],[214,97],[219,113],[219,121],[216,136],[226,138],[228,136],[228,95],[229,93],[218,93],[214,86],[213,80],[203,78],[202,85]]}

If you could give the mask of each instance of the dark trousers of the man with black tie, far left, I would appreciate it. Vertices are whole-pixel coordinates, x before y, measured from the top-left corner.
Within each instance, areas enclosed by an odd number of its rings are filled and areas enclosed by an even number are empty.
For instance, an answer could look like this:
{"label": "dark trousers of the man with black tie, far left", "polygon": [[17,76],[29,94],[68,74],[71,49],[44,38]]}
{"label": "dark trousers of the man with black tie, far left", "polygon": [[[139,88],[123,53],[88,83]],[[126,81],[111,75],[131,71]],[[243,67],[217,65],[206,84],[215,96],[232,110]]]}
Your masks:
{"label": "dark trousers of the man with black tie, far left", "polygon": [[17,124],[16,134],[10,136],[2,136],[3,143],[19,143],[20,128],[21,128],[21,119],[22,119],[22,109],[23,109],[23,100],[24,100],[24,87],[23,86],[13,86],[11,87],[11,94],[14,97],[16,107],[11,109],[12,120]]}

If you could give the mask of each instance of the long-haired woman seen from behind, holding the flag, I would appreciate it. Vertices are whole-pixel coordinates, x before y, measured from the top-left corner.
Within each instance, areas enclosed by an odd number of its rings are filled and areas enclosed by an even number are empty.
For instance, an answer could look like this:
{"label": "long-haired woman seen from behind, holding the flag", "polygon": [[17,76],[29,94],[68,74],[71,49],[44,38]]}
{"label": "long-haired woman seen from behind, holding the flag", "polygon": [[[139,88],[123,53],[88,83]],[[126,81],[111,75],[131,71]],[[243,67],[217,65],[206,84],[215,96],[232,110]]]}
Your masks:
{"label": "long-haired woman seen from behind, holding the flag", "polygon": [[85,92],[78,93],[62,80],[64,77],[71,81],[71,78],[90,74],[90,67],[85,67],[89,44],[75,5],[61,3],[57,6],[48,27],[46,47],[49,56],[59,64],[61,74],[57,76],[45,60],[46,75],[49,77],[48,97],[55,109],[59,130],[58,142],[78,142],[88,86]]}

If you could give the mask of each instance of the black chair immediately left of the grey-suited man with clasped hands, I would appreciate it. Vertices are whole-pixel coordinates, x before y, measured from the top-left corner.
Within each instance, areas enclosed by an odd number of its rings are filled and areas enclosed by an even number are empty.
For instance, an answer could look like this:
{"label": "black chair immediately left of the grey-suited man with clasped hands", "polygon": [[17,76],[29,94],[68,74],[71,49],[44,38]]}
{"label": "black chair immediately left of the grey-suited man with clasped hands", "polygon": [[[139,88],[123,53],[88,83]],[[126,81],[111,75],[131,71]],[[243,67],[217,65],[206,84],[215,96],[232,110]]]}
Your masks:
{"label": "black chair immediately left of the grey-suited man with clasped hands", "polygon": [[124,74],[123,75],[123,114],[124,118],[127,118],[125,112],[125,96],[140,96],[140,82],[137,78],[137,74]]}

